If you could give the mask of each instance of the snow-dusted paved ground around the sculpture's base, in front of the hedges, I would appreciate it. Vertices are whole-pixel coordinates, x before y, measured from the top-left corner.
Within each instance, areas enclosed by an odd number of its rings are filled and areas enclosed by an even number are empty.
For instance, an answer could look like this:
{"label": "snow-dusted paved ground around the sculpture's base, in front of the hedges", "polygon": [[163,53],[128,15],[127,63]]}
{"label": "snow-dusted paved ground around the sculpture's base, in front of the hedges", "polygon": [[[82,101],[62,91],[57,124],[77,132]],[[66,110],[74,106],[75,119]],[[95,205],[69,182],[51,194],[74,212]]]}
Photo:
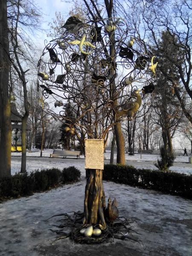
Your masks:
{"label": "snow-dusted paved ground around the sculpture's base, in front of the hedges", "polygon": [[[55,241],[49,225],[62,212],[83,210],[85,180],[0,204],[0,256],[192,256],[192,201],[104,181],[106,201],[116,197],[120,215],[143,244],[111,239],[97,245]],[[61,218],[61,217],[60,217]]]}

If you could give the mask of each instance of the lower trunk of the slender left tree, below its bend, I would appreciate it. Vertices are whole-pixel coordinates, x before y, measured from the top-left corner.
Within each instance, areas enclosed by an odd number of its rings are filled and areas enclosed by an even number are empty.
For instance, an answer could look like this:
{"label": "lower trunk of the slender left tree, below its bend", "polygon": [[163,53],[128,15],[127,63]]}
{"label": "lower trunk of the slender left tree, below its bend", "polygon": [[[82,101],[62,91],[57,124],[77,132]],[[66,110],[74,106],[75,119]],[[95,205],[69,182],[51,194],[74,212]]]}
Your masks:
{"label": "lower trunk of the slender left tree, below its bend", "polygon": [[21,157],[21,168],[20,172],[26,172],[26,122],[28,119],[28,114],[26,113],[22,117],[22,125],[21,125],[21,144],[22,144],[22,157]]}

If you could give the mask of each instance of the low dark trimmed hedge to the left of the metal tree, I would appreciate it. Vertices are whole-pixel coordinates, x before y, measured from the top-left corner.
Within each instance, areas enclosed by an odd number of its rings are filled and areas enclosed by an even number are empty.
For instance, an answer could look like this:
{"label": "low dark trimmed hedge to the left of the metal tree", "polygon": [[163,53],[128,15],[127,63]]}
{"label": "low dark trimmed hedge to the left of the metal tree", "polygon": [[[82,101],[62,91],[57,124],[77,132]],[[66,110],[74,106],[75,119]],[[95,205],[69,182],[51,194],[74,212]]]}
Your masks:
{"label": "low dark trimmed hedge to the left of the metal tree", "polygon": [[60,184],[76,182],[81,172],[74,166],[36,170],[28,174],[16,173],[12,177],[0,179],[0,201],[5,198],[18,198],[20,196],[32,195],[34,192],[45,191]]}

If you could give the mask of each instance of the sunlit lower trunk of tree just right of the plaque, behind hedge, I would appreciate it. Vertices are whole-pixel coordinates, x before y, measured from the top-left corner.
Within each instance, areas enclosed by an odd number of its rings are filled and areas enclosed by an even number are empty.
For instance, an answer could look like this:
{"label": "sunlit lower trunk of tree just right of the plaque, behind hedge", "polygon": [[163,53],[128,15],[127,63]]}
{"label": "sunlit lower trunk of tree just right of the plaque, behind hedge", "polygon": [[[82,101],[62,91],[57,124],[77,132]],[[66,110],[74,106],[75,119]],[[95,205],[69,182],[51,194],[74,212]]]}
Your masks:
{"label": "sunlit lower trunk of tree just right of the plaque, behind hedge", "polygon": [[116,163],[125,164],[125,140],[122,134],[120,122],[116,122],[115,137],[117,148]]}

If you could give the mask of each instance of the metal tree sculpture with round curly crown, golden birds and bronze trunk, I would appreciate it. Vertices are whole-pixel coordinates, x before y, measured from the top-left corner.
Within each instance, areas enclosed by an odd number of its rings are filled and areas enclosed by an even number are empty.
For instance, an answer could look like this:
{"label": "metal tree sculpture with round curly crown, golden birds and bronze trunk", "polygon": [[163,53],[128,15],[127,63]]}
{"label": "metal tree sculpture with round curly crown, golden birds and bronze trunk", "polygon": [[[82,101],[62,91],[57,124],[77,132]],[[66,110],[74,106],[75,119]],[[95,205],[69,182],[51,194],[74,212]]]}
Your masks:
{"label": "metal tree sculpture with round curly crown, golden birds and bronze trunk", "polygon": [[[38,87],[56,111],[46,102],[45,109],[82,144],[85,138],[106,144],[110,128],[134,119],[142,94],[154,90],[151,73],[157,62],[121,18],[81,21],[72,16],[61,29],[62,36],[46,45],[38,62]],[[87,169],[86,177],[83,223],[105,229],[102,170]]]}

